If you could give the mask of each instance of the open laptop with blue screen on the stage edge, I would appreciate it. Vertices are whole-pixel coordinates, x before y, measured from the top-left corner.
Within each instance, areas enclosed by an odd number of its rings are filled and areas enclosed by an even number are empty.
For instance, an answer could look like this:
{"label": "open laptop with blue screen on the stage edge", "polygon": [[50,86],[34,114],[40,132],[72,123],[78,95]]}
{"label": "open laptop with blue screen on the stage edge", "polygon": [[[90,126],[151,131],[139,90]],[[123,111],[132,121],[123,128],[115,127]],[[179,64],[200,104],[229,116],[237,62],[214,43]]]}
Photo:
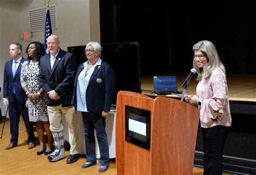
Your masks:
{"label": "open laptop with blue screen on the stage edge", "polygon": [[157,95],[180,94],[176,76],[153,76],[154,93]]}

